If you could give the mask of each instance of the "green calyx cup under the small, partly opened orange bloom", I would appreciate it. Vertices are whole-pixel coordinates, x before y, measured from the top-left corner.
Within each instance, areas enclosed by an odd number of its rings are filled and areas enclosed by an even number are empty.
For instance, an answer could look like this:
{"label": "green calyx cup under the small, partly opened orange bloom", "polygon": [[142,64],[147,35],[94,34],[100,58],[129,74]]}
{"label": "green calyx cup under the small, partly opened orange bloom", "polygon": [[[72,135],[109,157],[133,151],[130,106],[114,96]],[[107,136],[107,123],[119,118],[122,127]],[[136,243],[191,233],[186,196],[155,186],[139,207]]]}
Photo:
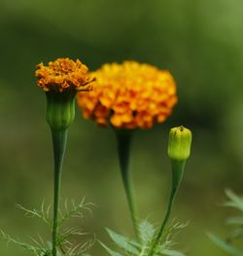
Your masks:
{"label": "green calyx cup under the small, partly opened orange bloom", "polygon": [[46,119],[52,130],[65,130],[74,121],[76,91],[47,91]]}

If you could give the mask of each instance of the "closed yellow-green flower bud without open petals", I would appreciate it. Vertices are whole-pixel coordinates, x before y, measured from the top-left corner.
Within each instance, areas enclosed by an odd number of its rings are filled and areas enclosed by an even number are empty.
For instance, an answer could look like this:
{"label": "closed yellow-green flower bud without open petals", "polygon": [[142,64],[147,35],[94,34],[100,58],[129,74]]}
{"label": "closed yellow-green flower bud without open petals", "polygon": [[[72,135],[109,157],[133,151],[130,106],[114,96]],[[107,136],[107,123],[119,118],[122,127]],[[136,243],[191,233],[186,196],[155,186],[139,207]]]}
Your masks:
{"label": "closed yellow-green flower bud without open petals", "polygon": [[186,161],[191,151],[191,130],[183,126],[169,132],[168,156],[172,161]]}

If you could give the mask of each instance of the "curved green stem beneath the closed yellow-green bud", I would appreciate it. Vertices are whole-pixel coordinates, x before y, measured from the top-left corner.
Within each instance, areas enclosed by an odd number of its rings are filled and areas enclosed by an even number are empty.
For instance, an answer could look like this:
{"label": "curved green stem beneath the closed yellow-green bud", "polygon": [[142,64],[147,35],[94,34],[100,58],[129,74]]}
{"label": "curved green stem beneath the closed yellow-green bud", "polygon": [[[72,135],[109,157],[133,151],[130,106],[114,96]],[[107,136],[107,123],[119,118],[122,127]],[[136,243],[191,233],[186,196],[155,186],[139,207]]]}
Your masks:
{"label": "curved green stem beneath the closed yellow-green bud", "polygon": [[179,186],[180,186],[181,181],[182,181],[185,164],[186,164],[186,161],[172,161],[171,162],[171,165],[172,165],[172,185],[171,185],[169,202],[168,202],[168,205],[167,205],[166,213],[165,213],[163,222],[161,224],[161,227],[160,227],[160,229],[157,233],[156,239],[154,240],[154,242],[152,243],[152,246],[150,248],[150,251],[149,251],[149,254],[148,254],[149,256],[154,255],[156,245],[158,244],[159,239],[161,238],[161,236],[163,234],[164,228],[165,228],[165,226],[166,226],[166,224],[169,220],[171,209],[173,207],[177,191],[178,191]]}

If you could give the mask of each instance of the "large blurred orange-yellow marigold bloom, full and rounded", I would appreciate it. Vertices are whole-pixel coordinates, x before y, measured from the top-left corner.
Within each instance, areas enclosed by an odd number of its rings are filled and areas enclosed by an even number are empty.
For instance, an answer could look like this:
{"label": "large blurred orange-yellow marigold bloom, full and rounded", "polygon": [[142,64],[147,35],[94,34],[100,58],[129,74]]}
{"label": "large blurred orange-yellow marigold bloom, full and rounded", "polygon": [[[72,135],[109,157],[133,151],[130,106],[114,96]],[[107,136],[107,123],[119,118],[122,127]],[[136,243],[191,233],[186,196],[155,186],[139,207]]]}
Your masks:
{"label": "large blurred orange-yellow marigold bloom, full and rounded", "polygon": [[78,93],[84,117],[115,128],[151,128],[170,115],[177,102],[168,71],[136,61],[104,64],[91,73],[93,90]]}

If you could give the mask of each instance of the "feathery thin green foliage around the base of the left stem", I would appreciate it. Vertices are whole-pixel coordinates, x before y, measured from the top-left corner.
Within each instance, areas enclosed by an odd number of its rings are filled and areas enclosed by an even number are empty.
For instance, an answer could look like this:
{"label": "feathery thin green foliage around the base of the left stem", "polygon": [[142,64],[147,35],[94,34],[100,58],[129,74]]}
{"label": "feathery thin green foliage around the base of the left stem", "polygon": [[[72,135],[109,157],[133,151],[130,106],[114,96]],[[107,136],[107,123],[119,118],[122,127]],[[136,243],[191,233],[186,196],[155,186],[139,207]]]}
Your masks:
{"label": "feathery thin green foliage around the base of the left stem", "polygon": [[[80,227],[70,228],[66,226],[66,222],[72,218],[83,218],[85,212],[91,214],[90,207],[92,205],[92,203],[86,202],[85,199],[78,204],[75,201],[71,201],[70,203],[68,201],[64,202],[63,210],[59,210],[59,233],[57,234],[58,256],[90,256],[87,254],[87,251],[94,244],[95,237],[92,236],[90,238],[90,234],[84,232]],[[17,208],[23,210],[28,217],[41,219],[52,231],[52,218],[50,217],[51,205],[45,207],[45,203],[43,202],[40,210],[27,209],[19,204],[17,204]],[[30,251],[35,256],[52,256],[52,242],[42,238],[39,234],[37,238],[30,238],[31,241],[29,243],[22,242],[19,238],[13,238],[4,231],[1,231],[1,234],[8,243],[13,242],[25,250]],[[78,241],[80,239],[84,241]]]}

